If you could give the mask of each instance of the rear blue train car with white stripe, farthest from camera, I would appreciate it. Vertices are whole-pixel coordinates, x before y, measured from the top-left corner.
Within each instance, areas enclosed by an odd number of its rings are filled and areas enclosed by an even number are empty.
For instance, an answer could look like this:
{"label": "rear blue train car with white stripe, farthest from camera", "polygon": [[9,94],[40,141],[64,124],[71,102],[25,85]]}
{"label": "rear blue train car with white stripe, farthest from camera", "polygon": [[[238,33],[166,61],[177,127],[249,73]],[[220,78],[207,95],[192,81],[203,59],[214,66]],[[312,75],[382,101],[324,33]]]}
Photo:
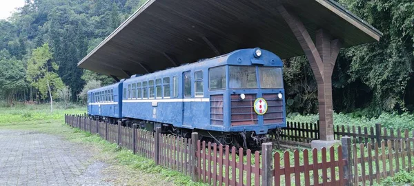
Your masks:
{"label": "rear blue train car with white stripe, farthest from camera", "polygon": [[122,83],[88,91],[88,115],[115,123],[122,116]]}

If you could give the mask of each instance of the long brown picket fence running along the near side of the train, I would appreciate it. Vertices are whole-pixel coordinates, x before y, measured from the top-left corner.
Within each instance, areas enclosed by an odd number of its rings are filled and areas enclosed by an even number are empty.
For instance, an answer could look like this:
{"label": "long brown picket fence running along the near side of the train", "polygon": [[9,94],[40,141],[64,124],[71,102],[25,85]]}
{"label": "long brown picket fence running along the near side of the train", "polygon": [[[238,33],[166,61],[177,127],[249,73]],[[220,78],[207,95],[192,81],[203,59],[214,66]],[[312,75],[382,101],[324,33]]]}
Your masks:
{"label": "long brown picket fence running along the near side of the train", "polygon": [[[131,149],[135,154],[152,158],[157,165],[210,185],[372,185],[386,176],[414,169],[413,138],[381,143],[374,138],[374,143],[365,143],[365,138],[371,140],[371,134],[346,136],[341,138],[339,147],[275,153],[271,143],[264,143],[262,152],[251,152],[199,141],[195,132],[191,138],[181,138],[161,134],[160,128],[156,132],[139,130],[136,124],[130,128],[70,115],[65,116],[65,121],[72,127],[92,131],[111,143]],[[308,129],[308,132],[313,130],[312,127]],[[386,134],[389,133],[383,130],[380,138],[391,137]],[[359,137],[362,143],[352,142],[355,138],[359,142]]]}

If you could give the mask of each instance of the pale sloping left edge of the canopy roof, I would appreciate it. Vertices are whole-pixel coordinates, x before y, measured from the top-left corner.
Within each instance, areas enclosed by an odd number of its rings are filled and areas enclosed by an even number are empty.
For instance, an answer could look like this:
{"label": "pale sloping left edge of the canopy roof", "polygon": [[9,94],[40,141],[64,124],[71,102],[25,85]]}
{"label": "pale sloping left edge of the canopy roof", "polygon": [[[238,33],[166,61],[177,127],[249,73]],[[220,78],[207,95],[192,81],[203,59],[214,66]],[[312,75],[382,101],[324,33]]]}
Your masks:
{"label": "pale sloping left edge of the canopy roof", "polygon": [[97,47],[95,47],[92,51],[89,52],[88,55],[86,55],[85,57],[83,57],[83,59],[81,61],[79,61],[79,63],[77,63],[77,65],[81,65],[81,63],[83,63],[83,61],[85,61],[86,59],[88,59],[92,54],[94,54],[99,48],[101,48],[102,45],[104,45],[106,42],[108,42],[110,39],[112,39],[112,37],[115,36],[115,34],[117,34],[119,31],[121,31],[124,27],[126,27],[126,25],[128,25],[132,20],[134,20],[139,14],[141,14],[141,12],[143,12],[144,10],[146,10],[146,8],[148,8],[148,6],[150,6],[152,3],[154,3],[156,0],[148,0],[146,1],[146,3],[144,3],[144,5],[142,5],[137,11],[135,11],[132,15],[130,15],[130,17],[128,17],[128,19],[126,19],[123,23],[121,23],[121,25],[119,25],[119,27],[117,29],[115,29],[112,33],[109,34],[108,37],[106,37],[105,39],[103,39],[103,41],[101,43],[99,43],[99,45],[97,45]]}

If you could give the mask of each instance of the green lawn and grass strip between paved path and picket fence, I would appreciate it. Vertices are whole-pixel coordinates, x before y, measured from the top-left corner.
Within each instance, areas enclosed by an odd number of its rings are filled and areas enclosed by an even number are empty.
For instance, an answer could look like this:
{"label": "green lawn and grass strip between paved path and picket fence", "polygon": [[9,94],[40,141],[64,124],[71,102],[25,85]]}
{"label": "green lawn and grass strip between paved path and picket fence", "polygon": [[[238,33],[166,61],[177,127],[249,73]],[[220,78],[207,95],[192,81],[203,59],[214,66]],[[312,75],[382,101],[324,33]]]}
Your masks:
{"label": "green lawn and grass strip between paved path and picket fence", "polygon": [[[204,185],[203,183],[194,183],[190,177],[184,176],[172,169],[156,166],[155,162],[137,156],[130,150],[121,148],[115,144],[108,143],[97,135],[74,129],[64,124],[64,114],[83,114],[86,112],[84,107],[74,107],[69,110],[54,109],[50,113],[49,105],[17,105],[16,107],[0,108],[0,130],[31,130],[46,134],[62,136],[68,141],[87,145],[99,152],[99,160],[106,161],[116,165],[117,172],[122,174],[144,173],[151,175],[157,174],[166,183],[176,185]],[[132,175],[136,176],[135,175]],[[137,185],[135,178],[132,178],[128,185]],[[120,180],[115,180],[120,181]],[[154,180],[148,180],[154,181]],[[152,185],[147,183],[147,185]]]}

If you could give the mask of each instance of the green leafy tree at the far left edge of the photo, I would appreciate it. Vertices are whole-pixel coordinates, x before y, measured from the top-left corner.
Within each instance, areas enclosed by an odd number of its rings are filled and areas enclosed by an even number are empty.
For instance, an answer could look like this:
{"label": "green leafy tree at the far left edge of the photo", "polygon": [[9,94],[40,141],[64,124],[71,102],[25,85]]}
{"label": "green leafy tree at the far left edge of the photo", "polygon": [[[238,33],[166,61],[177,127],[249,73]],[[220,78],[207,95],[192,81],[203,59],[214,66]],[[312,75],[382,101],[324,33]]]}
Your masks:
{"label": "green leafy tree at the far left edge of the photo", "polygon": [[25,72],[22,61],[6,49],[0,51],[0,93],[6,96],[8,106],[13,105],[14,94],[26,88]]}

